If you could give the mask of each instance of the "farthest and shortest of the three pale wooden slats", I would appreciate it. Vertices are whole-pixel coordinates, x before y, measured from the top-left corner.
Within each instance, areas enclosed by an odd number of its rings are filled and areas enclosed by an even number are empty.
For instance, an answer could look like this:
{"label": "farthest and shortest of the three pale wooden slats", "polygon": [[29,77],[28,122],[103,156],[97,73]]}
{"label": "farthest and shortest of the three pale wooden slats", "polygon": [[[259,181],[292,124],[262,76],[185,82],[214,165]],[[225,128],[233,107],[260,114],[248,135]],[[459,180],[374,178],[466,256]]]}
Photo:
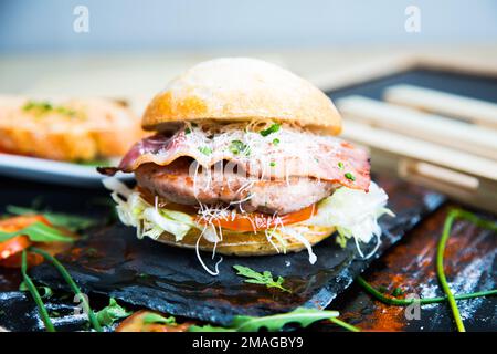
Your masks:
{"label": "farthest and shortest of the three pale wooden slats", "polygon": [[413,85],[388,87],[384,100],[497,129],[497,104],[491,102]]}

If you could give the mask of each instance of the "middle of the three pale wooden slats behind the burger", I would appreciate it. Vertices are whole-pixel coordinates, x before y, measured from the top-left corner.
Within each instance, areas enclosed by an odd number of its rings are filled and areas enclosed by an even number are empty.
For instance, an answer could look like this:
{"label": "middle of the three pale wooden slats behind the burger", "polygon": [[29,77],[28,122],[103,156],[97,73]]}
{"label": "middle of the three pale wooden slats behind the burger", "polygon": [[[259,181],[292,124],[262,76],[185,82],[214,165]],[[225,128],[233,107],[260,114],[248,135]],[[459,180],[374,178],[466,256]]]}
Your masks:
{"label": "middle of the three pale wooden slats behind the burger", "polygon": [[497,160],[497,132],[363,96],[337,101],[349,119]]}

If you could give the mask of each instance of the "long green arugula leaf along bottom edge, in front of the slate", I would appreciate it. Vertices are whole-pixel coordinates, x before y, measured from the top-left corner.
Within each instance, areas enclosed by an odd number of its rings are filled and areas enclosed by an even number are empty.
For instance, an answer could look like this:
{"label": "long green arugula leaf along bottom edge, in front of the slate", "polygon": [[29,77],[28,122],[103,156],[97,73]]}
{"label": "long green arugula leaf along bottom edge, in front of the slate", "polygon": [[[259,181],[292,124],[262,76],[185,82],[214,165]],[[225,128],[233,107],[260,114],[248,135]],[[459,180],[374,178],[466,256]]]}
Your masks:
{"label": "long green arugula leaf along bottom edge, in front of the slate", "polygon": [[306,327],[309,324],[338,317],[337,311],[320,311],[316,309],[298,308],[288,313],[281,313],[264,317],[235,316],[229,327],[216,327],[212,325],[192,325],[189,332],[257,332],[265,327],[269,332],[281,331],[288,323],[298,323]]}

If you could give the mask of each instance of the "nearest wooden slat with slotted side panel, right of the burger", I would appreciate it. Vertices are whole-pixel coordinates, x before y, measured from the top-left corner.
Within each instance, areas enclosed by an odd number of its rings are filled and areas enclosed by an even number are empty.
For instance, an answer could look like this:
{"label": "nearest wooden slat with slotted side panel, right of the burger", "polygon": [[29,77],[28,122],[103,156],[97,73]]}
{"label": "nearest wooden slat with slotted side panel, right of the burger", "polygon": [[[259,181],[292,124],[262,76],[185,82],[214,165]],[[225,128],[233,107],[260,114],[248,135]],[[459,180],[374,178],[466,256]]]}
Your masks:
{"label": "nearest wooden slat with slotted side panel, right of the burger", "polygon": [[342,136],[368,146],[373,171],[391,173],[463,202],[497,212],[497,163],[345,116]]}

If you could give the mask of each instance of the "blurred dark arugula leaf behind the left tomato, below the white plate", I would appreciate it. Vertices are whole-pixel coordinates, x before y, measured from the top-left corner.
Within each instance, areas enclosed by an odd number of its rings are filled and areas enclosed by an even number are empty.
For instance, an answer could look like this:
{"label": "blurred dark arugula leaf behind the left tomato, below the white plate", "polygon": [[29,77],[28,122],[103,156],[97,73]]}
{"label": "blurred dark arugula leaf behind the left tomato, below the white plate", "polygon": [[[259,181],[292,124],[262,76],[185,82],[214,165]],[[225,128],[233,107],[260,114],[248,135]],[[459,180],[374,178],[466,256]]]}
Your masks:
{"label": "blurred dark arugula leaf behind the left tomato, below the white plate", "polygon": [[24,208],[18,206],[7,206],[7,211],[13,215],[42,215],[50,223],[63,227],[72,232],[88,229],[98,223],[98,220],[87,217],[75,216],[64,212],[52,212],[47,210],[38,210],[34,208]]}

